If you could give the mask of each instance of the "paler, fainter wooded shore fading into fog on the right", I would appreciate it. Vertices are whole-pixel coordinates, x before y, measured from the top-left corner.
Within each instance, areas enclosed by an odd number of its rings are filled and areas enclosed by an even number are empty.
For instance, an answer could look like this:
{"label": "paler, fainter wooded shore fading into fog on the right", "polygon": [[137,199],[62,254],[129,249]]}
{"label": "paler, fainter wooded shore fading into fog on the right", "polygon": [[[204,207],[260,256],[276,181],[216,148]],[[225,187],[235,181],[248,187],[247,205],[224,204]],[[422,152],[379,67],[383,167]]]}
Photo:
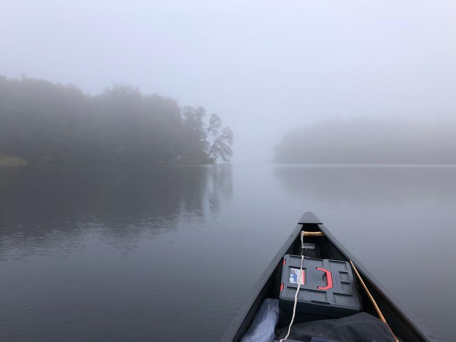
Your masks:
{"label": "paler, fainter wooded shore fading into fog on the right", "polygon": [[326,120],[289,131],[275,163],[456,164],[456,120]]}

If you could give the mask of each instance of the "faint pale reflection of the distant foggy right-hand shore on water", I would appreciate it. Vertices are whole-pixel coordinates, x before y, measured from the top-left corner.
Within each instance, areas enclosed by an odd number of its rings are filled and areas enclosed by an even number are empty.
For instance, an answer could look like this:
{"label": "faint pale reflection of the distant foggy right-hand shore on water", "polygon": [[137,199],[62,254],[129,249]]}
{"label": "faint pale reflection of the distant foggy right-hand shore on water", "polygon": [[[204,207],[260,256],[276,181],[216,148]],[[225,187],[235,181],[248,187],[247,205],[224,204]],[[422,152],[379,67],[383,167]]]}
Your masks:
{"label": "faint pale reflection of the distant foggy right-hand shore on water", "polygon": [[324,203],[453,200],[456,167],[452,166],[279,166],[285,189]]}

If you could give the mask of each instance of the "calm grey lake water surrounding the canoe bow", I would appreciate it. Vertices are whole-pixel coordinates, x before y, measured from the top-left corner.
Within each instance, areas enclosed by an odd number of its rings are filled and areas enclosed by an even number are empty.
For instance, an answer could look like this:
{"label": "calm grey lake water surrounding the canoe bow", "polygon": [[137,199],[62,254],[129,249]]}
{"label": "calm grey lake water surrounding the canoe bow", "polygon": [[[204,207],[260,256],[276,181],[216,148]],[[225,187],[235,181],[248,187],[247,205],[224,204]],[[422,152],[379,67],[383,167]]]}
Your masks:
{"label": "calm grey lake water surrounding the canoe bow", "polygon": [[305,211],[441,341],[456,167],[0,169],[0,340],[217,341]]}

